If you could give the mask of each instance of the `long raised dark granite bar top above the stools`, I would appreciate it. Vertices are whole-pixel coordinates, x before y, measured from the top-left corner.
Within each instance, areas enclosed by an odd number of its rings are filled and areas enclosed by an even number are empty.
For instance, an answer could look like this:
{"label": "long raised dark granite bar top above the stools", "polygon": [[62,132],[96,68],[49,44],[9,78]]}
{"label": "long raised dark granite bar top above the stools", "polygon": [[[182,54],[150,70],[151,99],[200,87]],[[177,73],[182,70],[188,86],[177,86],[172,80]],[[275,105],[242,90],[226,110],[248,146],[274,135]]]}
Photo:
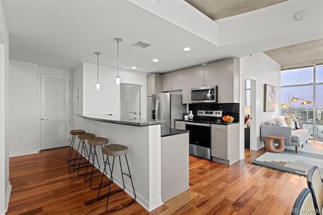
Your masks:
{"label": "long raised dark granite bar top above the stools", "polygon": [[160,125],[165,123],[165,120],[156,121],[152,119],[139,119],[139,118],[126,118],[120,116],[111,116],[111,115],[104,115],[104,114],[76,114],[76,116],[88,119],[88,120],[95,120],[100,122],[106,123],[116,123],[116,124],[123,124],[123,125],[130,125],[130,126],[150,126],[150,125]]}

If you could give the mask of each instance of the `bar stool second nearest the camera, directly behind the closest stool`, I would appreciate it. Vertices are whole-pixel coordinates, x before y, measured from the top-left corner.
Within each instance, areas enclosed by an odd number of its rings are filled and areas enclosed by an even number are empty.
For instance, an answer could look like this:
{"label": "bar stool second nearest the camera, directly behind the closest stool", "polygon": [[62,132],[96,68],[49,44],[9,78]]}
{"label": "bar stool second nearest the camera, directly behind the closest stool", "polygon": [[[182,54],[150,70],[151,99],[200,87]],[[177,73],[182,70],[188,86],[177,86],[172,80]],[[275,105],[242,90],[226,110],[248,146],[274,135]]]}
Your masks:
{"label": "bar stool second nearest the camera, directly behind the closest stool", "polygon": [[[92,171],[91,171],[91,177],[86,179],[86,176],[87,176],[87,170],[88,170],[88,167],[89,167],[89,163],[90,163],[90,159],[88,160],[88,163],[87,163],[87,166],[86,166],[86,171],[85,171],[85,177],[84,177],[84,181],[88,181],[90,179],[90,189],[99,189],[99,187],[96,187],[96,188],[92,188],[92,178],[94,177],[98,177],[98,176],[101,176],[101,175],[96,175],[96,176],[93,176],[93,173],[97,172],[100,170],[100,164],[99,164],[99,160],[97,158],[97,153],[96,153],[96,146],[101,146],[101,151],[102,151],[102,159],[104,160],[104,156],[103,156],[103,145],[106,145],[109,143],[109,139],[107,138],[104,138],[104,137],[93,137],[91,139],[88,139],[87,140],[87,143],[90,145],[90,153],[89,153],[89,158],[92,157]],[[92,147],[93,146],[93,147]],[[93,148],[93,151],[92,151],[92,148]],[[94,166],[94,160],[96,158],[96,161],[97,161],[97,165],[98,165],[98,169],[96,171],[93,171],[93,166]],[[104,171],[103,171],[103,174],[104,174]]]}

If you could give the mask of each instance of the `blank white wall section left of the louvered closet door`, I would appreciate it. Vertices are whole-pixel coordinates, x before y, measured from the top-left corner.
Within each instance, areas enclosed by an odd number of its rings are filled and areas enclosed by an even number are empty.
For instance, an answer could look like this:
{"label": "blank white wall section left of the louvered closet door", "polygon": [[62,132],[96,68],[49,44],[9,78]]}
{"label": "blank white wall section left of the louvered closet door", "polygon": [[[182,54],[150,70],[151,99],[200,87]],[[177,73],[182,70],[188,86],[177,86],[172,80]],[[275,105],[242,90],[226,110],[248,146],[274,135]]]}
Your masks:
{"label": "blank white wall section left of the louvered closet door", "polygon": [[10,61],[9,69],[10,156],[35,153],[38,152],[37,64]]}

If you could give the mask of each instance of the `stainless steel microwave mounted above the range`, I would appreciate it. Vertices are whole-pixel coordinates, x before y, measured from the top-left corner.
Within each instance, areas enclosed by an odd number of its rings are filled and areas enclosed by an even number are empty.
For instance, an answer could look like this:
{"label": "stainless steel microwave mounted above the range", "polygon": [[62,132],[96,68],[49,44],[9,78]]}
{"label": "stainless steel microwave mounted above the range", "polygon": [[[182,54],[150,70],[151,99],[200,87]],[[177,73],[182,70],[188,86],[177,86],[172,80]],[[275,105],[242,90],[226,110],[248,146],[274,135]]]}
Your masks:
{"label": "stainless steel microwave mounted above the range", "polygon": [[218,102],[218,86],[198,87],[191,89],[193,103]]}

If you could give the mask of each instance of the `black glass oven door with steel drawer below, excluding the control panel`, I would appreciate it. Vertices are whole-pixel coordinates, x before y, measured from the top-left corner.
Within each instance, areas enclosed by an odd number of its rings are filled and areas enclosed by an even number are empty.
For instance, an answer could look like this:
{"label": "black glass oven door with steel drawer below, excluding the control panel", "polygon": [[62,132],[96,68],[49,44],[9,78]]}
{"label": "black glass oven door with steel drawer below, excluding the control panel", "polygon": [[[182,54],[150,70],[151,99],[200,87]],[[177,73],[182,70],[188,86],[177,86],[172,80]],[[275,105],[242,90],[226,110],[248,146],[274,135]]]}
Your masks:
{"label": "black glass oven door with steel drawer below, excluding the control panel", "polygon": [[186,122],[186,130],[190,131],[190,154],[211,159],[211,125]]}

